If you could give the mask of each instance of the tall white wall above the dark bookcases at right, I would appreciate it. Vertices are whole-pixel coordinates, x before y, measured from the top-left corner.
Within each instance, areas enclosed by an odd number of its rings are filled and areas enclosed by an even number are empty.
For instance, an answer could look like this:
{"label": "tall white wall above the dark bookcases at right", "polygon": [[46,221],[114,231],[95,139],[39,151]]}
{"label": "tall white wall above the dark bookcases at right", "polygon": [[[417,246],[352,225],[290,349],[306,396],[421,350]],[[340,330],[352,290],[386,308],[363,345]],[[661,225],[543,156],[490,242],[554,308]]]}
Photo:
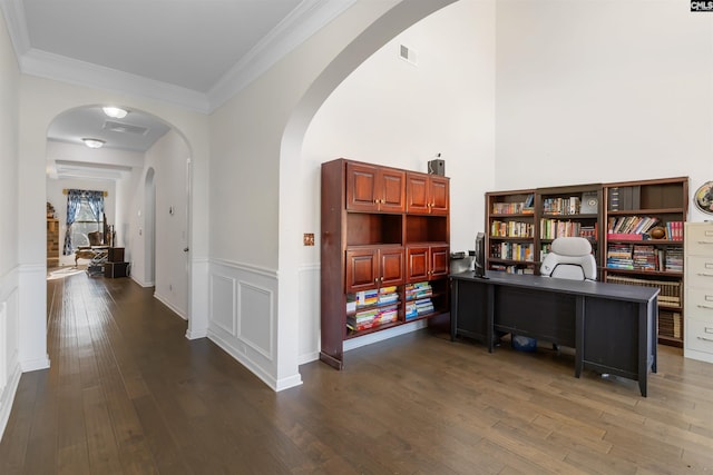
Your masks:
{"label": "tall white wall above the dark bookcases at right", "polygon": [[498,1],[496,189],[712,179],[713,16],[688,7]]}

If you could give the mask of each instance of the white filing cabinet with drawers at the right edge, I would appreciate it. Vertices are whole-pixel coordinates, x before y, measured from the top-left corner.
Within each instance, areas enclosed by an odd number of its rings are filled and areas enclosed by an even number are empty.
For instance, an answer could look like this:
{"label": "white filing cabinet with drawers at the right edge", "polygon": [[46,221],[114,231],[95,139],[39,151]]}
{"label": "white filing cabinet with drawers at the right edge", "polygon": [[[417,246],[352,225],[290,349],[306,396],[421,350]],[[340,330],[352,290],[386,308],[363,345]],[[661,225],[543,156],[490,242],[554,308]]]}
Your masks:
{"label": "white filing cabinet with drawers at the right edge", "polygon": [[685,225],[686,358],[713,363],[713,224]]}

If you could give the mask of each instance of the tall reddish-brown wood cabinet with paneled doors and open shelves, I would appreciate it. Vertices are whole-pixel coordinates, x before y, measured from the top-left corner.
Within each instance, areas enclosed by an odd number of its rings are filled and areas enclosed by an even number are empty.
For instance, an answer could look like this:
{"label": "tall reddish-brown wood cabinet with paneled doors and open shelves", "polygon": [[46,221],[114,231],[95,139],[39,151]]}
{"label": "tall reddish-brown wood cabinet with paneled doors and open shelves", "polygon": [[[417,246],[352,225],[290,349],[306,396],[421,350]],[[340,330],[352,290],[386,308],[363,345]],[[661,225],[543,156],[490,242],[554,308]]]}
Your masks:
{"label": "tall reddish-brown wood cabinet with paneled doors and open shelves", "polygon": [[320,359],[341,369],[344,340],[448,314],[448,189],[446,177],[322,164]]}

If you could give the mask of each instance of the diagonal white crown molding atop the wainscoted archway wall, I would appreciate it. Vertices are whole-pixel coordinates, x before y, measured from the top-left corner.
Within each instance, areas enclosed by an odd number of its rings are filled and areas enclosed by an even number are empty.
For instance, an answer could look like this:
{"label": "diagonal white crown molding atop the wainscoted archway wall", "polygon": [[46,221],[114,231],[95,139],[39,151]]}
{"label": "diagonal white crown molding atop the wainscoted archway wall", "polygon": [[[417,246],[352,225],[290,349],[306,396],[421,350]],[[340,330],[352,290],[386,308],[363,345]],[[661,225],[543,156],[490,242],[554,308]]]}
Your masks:
{"label": "diagonal white crown molding atop the wainscoted archway wall", "polygon": [[211,111],[247,87],[280,59],[356,3],[356,0],[304,0],[231,68],[208,91]]}

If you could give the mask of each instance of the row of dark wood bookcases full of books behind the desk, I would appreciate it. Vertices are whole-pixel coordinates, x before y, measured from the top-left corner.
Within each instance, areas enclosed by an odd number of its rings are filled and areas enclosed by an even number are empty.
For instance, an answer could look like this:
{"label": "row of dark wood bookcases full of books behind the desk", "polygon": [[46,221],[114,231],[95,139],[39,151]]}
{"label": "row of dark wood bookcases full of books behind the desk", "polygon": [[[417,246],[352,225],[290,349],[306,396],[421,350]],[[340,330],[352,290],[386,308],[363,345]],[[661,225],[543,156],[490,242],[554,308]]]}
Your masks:
{"label": "row of dark wood bookcases full of books behind the desk", "polygon": [[[599,280],[661,289],[658,342],[683,346],[687,204],[687,177],[487,192],[486,266],[539,274],[556,237],[586,237]],[[504,255],[511,248],[529,250]]]}

